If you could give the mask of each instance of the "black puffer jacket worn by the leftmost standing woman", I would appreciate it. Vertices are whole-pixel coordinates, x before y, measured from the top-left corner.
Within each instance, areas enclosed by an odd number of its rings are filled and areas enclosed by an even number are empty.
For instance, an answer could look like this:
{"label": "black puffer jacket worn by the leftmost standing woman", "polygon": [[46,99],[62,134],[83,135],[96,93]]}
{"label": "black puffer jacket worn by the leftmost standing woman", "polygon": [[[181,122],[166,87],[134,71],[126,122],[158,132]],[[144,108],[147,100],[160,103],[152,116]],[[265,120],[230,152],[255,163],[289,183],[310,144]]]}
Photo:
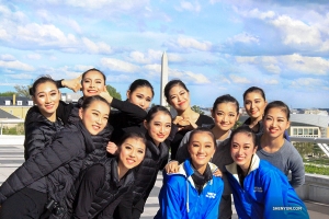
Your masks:
{"label": "black puffer jacket worn by the leftmost standing woman", "polygon": [[[48,120],[41,114],[37,106],[33,106],[29,110],[29,116],[25,118],[24,128],[24,158],[27,160],[30,157],[41,152],[46,146],[49,146],[56,134],[64,128],[64,124],[60,119],[57,119],[55,123]],[[29,187],[46,193],[46,178],[42,177]]]}

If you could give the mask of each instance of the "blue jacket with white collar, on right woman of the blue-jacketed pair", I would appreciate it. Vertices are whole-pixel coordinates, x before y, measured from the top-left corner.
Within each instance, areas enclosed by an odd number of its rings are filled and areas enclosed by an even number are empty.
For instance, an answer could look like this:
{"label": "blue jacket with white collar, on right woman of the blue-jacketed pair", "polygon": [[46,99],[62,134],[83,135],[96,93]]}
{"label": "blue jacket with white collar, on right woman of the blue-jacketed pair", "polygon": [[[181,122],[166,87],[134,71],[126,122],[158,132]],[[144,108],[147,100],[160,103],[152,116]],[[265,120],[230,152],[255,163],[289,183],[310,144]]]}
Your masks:
{"label": "blue jacket with white collar, on right woman of the blue-jacketed pair", "polygon": [[308,219],[304,203],[287,177],[275,166],[253,155],[243,188],[239,183],[237,164],[226,165],[236,210],[242,219]]}

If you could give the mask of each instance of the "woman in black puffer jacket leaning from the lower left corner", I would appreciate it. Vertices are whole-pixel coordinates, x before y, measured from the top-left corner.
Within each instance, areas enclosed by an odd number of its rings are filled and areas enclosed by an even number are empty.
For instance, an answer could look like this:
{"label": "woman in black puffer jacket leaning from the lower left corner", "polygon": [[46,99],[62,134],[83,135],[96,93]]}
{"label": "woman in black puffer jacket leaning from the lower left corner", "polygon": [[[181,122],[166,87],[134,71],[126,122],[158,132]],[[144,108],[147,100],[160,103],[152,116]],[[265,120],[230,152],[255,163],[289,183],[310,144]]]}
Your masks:
{"label": "woman in black puffer jacket leaning from the lower left corner", "polygon": [[[94,151],[92,136],[104,129],[109,114],[103,97],[86,99],[79,111],[81,120],[61,129],[49,146],[30,157],[0,186],[0,218],[39,218],[45,208],[61,216],[66,207],[63,198],[79,176],[83,159]],[[46,193],[30,188],[41,178],[46,182]]]}

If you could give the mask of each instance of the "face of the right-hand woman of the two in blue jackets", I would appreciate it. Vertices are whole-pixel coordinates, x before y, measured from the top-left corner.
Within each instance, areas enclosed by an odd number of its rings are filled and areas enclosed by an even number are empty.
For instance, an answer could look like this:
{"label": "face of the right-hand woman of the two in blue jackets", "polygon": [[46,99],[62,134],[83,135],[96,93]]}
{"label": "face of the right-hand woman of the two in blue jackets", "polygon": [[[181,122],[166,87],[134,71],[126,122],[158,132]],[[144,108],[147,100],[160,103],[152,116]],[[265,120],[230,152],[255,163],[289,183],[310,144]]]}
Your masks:
{"label": "face of the right-hand woman of the two in blue jackets", "polygon": [[231,139],[230,155],[243,172],[247,172],[252,154],[254,154],[256,151],[257,147],[253,143],[251,134],[238,132]]}

